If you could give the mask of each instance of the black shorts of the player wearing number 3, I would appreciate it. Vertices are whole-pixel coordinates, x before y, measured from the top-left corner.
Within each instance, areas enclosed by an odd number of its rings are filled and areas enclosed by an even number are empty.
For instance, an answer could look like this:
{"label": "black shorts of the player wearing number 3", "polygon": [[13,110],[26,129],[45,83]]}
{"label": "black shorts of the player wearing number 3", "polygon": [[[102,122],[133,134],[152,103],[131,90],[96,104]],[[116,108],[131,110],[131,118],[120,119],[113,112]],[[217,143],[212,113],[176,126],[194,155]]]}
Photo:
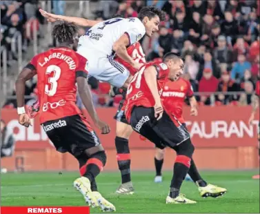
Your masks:
{"label": "black shorts of the player wearing number 3", "polygon": [[69,152],[77,157],[84,150],[100,144],[99,137],[83,115],[46,121],[41,126],[61,153]]}

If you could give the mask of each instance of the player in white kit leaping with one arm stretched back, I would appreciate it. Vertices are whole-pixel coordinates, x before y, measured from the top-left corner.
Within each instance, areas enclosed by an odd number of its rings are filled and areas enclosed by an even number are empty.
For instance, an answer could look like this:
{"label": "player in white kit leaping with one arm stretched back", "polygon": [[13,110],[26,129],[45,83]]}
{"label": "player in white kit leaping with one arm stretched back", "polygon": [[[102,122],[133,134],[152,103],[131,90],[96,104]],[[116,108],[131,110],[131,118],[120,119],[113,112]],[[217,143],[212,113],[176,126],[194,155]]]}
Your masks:
{"label": "player in white kit leaping with one arm stretched back", "polygon": [[[151,37],[159,30],[159,23],[166,13],[154,6],[141,9],[138,18],[114,18],[106,21],[92,21],[79,17],[66,17],[40,10],[48,21],[57,20],[77,23],[80,26],[92,26],[79,38],[78,52],[88,59],[89,75],[112,86],[127,88],[132,76],[119,62],[117,55],[132,67],[139,69],[142,64],[128,55],[127,47],[139,41],[144,35]],[[94,25],[94,26],[93,26]]]}

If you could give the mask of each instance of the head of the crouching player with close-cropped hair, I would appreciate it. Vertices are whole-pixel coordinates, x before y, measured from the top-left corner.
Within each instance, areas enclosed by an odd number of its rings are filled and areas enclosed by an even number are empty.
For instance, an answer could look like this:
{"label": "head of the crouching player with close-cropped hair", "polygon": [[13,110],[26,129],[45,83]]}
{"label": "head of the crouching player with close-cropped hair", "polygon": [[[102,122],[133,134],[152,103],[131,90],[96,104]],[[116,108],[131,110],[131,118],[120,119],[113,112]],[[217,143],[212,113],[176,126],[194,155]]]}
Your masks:
{"label": "head of the crouching player with close-cropped hair", "polygon": [[176,81],[183,74],[183,59],[173,52],[168,52],[163,56],[163,63],[166,64],[170,70],[168,77],[170,81]]}

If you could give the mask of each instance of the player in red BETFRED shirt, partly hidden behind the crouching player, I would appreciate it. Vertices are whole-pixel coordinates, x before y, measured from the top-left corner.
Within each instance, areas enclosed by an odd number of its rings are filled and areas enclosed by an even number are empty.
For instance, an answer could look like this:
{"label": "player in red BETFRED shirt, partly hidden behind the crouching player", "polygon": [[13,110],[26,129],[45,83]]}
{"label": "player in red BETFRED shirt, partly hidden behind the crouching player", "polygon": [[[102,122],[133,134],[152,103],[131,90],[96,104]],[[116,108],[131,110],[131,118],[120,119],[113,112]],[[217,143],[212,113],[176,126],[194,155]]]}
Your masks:
{"label": "player in red BETFRED shirt, partly hidden behind the crouching player", "polygon": [[[193,95],[192,86],[190,81],[179,77],[177,81],[168,80],[163,87],[163,93],[161,99],[163,100],[163,106],[169,109],[178,121],[186,126],[185,121],[182,116],[183,104],[186,97],[190,101],[190,115],[197,116],[197,101]],[[154,182],[162,182],[161,168],[163,167],[163,157],[165,149],[156,148],[154,155],[154,165],[156,170],[156,176],[154,177]],[[193,164],[193,162],[191,162]],[[192,168],[192,166],[190,167]]]}

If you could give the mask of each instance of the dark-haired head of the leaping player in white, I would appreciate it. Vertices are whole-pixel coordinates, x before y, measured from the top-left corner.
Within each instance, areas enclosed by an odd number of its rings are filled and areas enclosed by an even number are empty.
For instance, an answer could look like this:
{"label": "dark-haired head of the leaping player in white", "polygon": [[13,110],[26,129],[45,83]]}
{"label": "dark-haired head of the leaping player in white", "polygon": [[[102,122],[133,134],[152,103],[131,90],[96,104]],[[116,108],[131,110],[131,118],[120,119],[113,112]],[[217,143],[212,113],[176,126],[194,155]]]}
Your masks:
{"label": "dark-haired head of the leaping player in white", "polygon": [[164,21],[166,19],[166,12],[155,8],[154,6],[148,6],[140,10],[138,18],[146,27],[146,35],[151,37],[154,32],[159,30],[160,21]]}

